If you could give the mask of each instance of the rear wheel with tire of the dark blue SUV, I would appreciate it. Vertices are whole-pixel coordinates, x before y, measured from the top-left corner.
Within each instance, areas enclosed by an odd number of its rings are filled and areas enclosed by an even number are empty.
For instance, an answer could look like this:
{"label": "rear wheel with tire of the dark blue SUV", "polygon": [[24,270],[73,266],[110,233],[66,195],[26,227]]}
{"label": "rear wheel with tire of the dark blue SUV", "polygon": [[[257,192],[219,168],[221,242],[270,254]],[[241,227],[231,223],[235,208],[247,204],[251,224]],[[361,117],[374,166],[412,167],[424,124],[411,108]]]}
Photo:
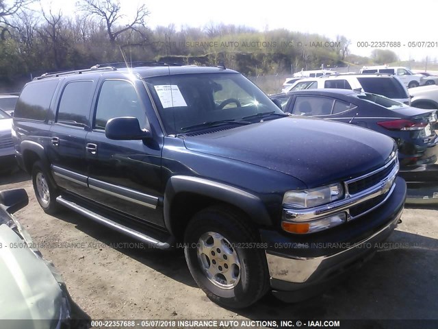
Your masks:
{"label": "rear wheel with tire of the dark blue SUV", "polygon": [[32,184],[34,184],[36,199],[44,212],[53,215],[60,210],[61,206],[56,202],[56,197],[60,193],[40,161],[36,161],[32,167]]}

